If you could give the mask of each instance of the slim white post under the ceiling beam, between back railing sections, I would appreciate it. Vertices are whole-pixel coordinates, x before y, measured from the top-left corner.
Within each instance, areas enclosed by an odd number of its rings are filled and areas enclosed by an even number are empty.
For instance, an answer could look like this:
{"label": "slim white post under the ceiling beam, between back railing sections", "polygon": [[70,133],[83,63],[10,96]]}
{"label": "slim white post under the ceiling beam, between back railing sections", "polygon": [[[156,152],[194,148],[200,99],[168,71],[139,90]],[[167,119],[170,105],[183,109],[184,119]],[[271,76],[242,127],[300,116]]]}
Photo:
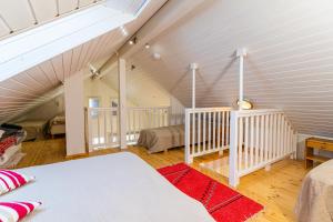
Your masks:
{"label": "slim white post under the ceiling beam, between back railing sections", "polygon": [[127,149],[127,68],[125,60],[118,60],[119,79],[119,128],[120,128],[120,149]]}

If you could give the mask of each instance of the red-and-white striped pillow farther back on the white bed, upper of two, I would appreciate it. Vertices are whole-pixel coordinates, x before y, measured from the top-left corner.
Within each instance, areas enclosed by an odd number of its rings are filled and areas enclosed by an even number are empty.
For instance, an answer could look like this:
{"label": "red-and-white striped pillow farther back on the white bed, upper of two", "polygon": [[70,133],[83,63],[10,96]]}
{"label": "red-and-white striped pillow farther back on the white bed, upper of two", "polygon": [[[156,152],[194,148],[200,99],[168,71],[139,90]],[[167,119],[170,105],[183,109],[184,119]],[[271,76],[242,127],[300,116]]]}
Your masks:
{"label": "red-and-white striped pillow farther back on the white bed, upper of two", "polygon": [[33,179],[33,176],[27,176],[13,171],[0,170],[0,195],[24,185]]}

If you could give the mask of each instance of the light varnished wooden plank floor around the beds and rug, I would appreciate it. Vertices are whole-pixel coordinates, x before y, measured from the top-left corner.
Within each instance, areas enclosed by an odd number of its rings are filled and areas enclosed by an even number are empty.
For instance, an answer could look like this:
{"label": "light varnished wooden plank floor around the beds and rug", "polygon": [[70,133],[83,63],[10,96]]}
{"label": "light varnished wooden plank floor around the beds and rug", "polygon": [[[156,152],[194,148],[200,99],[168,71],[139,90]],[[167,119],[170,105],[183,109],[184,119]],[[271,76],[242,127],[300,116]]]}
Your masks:
{"label": "light varnished wooden plank floor around the beds and rug", "polygon": [[[68,161],[65,159],[64,140],[46,140],[23,143],[22,150],[27,155],[18,168],[49,164]],[[144,148],[130,147],[129,152],[138,154],[153,168],[162,168],[183,162],[183,149],[170,150],[167,153],[148,154]],[[92,155],[121,152],[118,149],[97,151]],[[127,152],[127,151],[125,151]],[[194,159],[193,168],[226,184],[226,179],[199,167],[200,162],[216,159],[216,154]],[[302,179],[307,171],[303,163],[292,160],[283,160],[272,165],[270,172],[256,171],[241,179],[238,188],[242,194],[264,205],[264,211],[250,221],[295,221],[293,209],[301,186]]]}

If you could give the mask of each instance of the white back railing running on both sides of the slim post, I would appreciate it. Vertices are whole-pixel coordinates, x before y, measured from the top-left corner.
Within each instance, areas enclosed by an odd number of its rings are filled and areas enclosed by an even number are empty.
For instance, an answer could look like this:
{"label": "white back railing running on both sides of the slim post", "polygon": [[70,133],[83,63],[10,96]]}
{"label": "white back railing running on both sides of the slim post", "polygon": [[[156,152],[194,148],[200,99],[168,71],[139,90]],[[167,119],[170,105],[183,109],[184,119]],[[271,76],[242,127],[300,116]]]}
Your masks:
{"label": "white back railing running on both sides of the slim post", "polygon": [[[127,108],[127,143],[135,144],[143,129],[167,127],[170,122],[169,107]],[[89,151],[120,145],[119,109],[87,109]]]}

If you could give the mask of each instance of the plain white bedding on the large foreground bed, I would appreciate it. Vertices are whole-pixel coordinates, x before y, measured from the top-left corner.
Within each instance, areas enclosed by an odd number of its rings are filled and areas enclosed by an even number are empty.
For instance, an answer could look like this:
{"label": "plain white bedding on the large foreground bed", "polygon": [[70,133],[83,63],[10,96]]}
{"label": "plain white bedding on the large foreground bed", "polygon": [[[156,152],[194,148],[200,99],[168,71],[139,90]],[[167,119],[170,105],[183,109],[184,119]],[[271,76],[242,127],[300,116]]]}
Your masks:
{"label": "plain white bedding on the large foreground bed", "polygon": [[41,201],[26,221],[214,221],[201,203],[128,152],[19,171],[37,180],[1,201]]}

